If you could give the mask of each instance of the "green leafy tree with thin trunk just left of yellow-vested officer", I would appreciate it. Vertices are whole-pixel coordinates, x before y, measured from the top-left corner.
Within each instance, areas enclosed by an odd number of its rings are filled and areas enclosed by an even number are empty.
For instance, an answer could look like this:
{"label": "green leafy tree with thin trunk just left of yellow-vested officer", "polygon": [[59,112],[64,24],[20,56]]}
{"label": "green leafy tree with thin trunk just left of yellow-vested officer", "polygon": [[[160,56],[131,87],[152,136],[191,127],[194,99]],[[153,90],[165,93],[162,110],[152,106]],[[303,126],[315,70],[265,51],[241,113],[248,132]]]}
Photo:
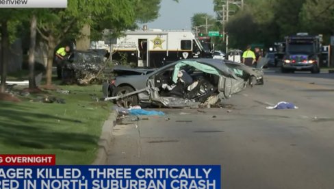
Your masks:
{"label": "green leafy tree with thin trunk just left of yellow-vested officer", "polygon": [[[57,44],[81,35],[84,24],[107,21],[115,33],[133,22],[130,1],[123,0],[68,0],[66,9],[51,9],[38,17],[38,34],[48,45],[47,85],[52,82],[53,53]],[[100,19],[103,18],[103,19]],[[100,31],[101,32],[101,31]]]}

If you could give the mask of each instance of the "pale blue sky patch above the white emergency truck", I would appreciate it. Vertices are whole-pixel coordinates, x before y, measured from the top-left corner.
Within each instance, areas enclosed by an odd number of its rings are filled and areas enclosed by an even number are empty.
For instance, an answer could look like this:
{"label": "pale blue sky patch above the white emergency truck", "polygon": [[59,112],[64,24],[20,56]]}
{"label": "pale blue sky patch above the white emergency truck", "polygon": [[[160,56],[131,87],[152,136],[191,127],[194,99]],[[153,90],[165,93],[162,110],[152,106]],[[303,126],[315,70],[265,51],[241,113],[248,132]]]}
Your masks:
{"label": "pale blue sky patch above the white emergency truck", "polygon": [[213,0],[162,0],[159,18],[146,23],[149,29],[185,29],[191,30],[191,18],[195,13],[207,13],[215,16]]}

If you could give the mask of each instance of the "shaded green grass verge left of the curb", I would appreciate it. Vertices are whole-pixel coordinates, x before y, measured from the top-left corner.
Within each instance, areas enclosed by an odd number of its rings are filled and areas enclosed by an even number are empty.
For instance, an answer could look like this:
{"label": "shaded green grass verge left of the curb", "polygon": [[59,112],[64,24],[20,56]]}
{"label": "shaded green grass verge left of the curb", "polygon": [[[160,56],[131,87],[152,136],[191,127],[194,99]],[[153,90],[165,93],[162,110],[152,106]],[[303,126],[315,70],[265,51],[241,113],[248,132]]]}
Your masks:
{"label": "shaded green grass verge left of the curb", "polygon": [[[97,102],[101,86],[60,86],[70,94],[47,91],[0,101],[0,154],[55,154],[56,164],[90,164],[97,152],[101,126],[110,103]],[[43,96],[66,103],[36,101]]]}

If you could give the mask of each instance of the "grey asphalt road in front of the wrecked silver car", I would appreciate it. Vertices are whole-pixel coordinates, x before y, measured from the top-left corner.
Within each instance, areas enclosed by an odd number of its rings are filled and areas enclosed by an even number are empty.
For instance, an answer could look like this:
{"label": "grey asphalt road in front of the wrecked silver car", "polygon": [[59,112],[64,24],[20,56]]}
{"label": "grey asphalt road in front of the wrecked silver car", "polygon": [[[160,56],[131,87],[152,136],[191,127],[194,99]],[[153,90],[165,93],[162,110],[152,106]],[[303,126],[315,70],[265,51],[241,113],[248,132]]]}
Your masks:
{"label": "grey asphalt road in front of the wrecked silver car", "polygon": [[[299,109],[266,109],[279,101]],[[266,71],[224,104],[123,119],[109,164],[218,164],[222,188],[334,188],[334,74]]]}

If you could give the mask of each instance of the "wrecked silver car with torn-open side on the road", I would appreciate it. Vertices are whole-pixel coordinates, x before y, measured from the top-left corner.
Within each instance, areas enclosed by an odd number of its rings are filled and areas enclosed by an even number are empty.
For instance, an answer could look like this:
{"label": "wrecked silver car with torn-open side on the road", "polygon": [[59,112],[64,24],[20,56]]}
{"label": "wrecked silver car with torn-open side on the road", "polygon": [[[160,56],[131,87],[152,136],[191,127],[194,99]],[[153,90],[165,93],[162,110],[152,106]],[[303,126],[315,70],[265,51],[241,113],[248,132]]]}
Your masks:
{"label": "wrecked silver car with torn-open side on the road", "polygon": [[124,108],[144,103],[197,108],[231,97],[251,78],[263,79],[252,68],[216,59],[179,60],[158,69],[116,66],[114,73],[116,79],[103,84],[103,95]]}

